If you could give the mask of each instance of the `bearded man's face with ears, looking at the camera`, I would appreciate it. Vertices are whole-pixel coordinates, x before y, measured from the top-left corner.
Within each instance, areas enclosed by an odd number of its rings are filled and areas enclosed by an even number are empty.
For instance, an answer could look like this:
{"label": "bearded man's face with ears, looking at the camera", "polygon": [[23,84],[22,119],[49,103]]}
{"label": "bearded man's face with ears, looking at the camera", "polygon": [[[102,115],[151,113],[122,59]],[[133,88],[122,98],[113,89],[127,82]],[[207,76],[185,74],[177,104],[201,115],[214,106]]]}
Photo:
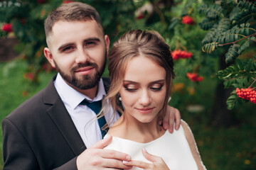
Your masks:
{"label": "bearded man's face with ears, looking at the camera", "polygon": [[92,89],[105,69],[109,39],[96,21],[58,21],[45,55],[63,79],[78,90]]}

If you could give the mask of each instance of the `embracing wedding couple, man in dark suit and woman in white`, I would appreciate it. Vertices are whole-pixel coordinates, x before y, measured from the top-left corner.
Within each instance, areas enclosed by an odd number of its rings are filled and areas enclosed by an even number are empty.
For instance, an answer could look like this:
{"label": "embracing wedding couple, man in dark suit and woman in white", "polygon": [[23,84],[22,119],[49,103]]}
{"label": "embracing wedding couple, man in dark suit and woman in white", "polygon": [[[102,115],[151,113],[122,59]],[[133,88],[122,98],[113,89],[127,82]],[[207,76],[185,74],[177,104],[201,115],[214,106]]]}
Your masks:
{"label": "embracing wedding couple, man in dark suit and woman in white", "polygon": [[4,169],[206,169],[168,106],[174,63],[159,33],[130,30],[109,53],[99,14],[79,2],[50,13],[45,31],[58,74],[4,118]]}

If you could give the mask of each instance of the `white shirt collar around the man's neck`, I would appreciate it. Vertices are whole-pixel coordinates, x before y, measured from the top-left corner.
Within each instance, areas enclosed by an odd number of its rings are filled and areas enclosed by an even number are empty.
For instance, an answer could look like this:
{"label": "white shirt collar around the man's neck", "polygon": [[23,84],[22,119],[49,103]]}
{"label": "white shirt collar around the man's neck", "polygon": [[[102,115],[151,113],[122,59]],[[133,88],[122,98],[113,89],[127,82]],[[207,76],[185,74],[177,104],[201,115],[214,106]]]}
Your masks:
{"label": "white shirt collar around the man's neck", "polygon": [[106,91],[102,79],[100,79],[98,85],[97,96],[95,96],[95,98],[93,99],[90,99],[89,97],[85,96],[84,94],[81,94],[80,92],[76,91],[71,86],[69,86],[63,80],[59,73],[57,74],[57,77],[54,81],[54,86],[58,91],[58,94],[60,95],[60,98],[62,99],[63,103],[69,105],[73,109],[75,109],[79,105],[79,103],[85,98],[87,99],[87,101],[100,101],[102,100],[102,98],[106,96]]}

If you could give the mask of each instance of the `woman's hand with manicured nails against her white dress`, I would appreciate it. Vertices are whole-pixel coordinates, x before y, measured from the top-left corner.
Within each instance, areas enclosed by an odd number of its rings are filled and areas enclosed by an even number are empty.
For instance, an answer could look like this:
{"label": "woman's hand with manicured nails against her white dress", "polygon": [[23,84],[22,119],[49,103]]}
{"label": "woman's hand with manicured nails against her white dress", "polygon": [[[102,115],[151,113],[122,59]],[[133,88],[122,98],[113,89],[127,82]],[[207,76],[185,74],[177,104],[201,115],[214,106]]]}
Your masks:
{"label": "woman's hand with manicured nails against her white dress", "polygon": [[144,170],[169,170],[168,166],[161,157],[156,157],[153,154],[149,154],[148,152],[146,152],[146,149],[142,149],[142,154],[146,159],[152,162],[152,164],[133,160],[129,162],[124,161],[123,164],[127,166],[137,166]]}

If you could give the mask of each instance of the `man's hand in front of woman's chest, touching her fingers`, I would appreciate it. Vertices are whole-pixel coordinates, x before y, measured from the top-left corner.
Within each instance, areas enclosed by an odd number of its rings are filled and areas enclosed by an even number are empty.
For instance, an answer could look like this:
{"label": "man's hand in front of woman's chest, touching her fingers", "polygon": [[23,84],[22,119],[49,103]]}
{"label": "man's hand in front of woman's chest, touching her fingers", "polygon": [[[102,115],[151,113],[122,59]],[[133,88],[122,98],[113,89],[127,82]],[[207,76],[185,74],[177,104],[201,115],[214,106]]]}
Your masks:
{"label": "man's hand in front of woman's chest, touching her fingers", "polygon": [[106,137],[87,148],[78,156],[78,170],[94,169],[131,169],[132,166],[124,165],[122,162],[129,162],[132,158],[128,154],[110,149],[103,149],[110,144],[112,137]]}

